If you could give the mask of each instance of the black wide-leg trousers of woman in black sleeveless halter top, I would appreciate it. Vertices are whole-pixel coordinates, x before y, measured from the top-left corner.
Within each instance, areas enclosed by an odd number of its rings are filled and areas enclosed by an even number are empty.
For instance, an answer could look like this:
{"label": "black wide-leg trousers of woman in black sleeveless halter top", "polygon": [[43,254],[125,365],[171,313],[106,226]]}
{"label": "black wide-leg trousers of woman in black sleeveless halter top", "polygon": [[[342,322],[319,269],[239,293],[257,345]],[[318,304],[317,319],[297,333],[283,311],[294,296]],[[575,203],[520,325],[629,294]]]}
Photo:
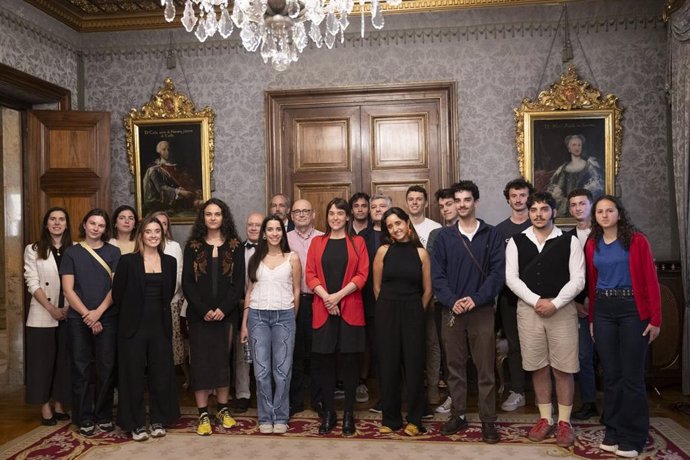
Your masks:
{"label": "black wide-leg trousers of woman in black sleeveless halter top", "polygon": [[426,357],[426,323],[421,300],[379,300],[376,304],[376,324],[377,347],[381,357],[381,423],[393,429],[402,426],[402,374],[407,387],[407,421],[421,426]]}

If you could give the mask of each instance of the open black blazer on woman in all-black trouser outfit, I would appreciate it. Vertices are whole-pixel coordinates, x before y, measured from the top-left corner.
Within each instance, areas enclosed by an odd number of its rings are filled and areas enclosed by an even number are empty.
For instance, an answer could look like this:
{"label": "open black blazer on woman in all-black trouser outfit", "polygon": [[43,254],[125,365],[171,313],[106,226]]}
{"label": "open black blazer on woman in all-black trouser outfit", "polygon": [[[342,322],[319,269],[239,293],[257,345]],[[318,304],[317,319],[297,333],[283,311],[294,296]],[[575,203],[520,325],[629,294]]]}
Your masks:
{"label": "open black blazer on woman in all-black trouser outfit", "polygon": [[[163,331],[172,336],[172,314],[170,302],[175,294],[177,261],[173,256],[161,255],[163,272]],[[141,324],[144,305],[144,258],[140,254],[125,254],[120,258],[113,279],[113,304],[118,308],[120,318],[118,335],[132,337]]]}

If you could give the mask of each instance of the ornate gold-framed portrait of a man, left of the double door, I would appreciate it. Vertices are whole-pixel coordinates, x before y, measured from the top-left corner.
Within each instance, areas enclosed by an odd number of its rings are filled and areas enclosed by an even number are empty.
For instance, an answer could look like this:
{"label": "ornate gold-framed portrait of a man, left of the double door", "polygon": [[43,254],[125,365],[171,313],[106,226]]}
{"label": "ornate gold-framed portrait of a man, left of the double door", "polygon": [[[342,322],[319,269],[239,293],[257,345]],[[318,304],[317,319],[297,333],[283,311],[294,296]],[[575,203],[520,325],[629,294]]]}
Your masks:
{"label": "ornate gold-framed portrait of a man, left of the double door", "polygon": [[166,211],[173,222],[194,221],[198,206],[211,198],[214,122],[213,110],[197,111],[170,78],[140,110],[125,115],[140,217]]}

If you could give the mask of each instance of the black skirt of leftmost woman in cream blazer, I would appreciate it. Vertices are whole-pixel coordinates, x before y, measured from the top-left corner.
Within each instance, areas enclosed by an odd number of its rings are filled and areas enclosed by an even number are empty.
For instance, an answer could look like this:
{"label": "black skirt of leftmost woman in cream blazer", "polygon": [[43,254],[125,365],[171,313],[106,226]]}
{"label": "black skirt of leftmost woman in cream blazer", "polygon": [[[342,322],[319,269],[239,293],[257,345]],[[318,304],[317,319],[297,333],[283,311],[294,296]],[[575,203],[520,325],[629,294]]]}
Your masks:
{"label": "black skirt of leftmost woman in cream blazer", "polygon": [[66,321],[58,327],[26,328],[26,403],[51,399],[63,404],[72,400]]}

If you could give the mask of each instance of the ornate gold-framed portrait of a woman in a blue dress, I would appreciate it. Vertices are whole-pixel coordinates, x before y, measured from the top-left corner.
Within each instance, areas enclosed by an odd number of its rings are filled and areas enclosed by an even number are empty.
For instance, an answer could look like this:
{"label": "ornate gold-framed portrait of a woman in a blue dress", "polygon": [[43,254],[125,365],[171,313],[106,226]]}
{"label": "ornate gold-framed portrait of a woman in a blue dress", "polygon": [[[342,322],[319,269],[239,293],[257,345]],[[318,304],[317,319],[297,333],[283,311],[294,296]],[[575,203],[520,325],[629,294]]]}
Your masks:
{"label": "ornate gold-framed portrait of a woman in a blue dress", "polygon": [[574,67],[536,101],[515,109],[515,144],[520,174],[536,191],[556,198],[558,225],[574,225],[568,193],[585,188],[594,199],[615,194],[620,166],[623,109],[612,94],[581,80]]}

